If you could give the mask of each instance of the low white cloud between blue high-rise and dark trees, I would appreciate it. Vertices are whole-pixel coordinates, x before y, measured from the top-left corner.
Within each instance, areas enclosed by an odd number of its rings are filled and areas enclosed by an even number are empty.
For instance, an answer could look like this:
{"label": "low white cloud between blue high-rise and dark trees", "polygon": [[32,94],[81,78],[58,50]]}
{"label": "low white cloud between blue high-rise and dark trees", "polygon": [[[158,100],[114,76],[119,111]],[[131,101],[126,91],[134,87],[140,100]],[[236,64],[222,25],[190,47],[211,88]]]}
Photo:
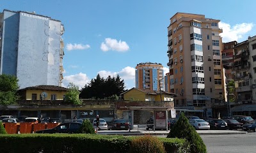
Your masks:
{"label": "low white cloud between blue high-rise and dark trees", "polygon": [[91,79],[86,76],[84,73],[78,73],[76,75],[65,76],[62,80],[63,87],[67,87],[69,83],[73,83],[81,89],[84,85],[91,82]]}

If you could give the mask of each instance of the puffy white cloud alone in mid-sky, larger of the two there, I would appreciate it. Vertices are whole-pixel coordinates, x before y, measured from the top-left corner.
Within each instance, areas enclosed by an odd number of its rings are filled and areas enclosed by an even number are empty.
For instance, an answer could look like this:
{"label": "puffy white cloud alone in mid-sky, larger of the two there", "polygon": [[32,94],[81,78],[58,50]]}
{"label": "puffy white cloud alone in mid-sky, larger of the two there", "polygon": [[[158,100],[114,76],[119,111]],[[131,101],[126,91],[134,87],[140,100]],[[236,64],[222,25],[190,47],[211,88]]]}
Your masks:
{"label": "puffy white cloud alone in mid-sky, larger of the two there", "polygon": [[125,41],[117,41],[115,39],[106,38],[105,42],[101,43],[100,49],[104,52],[109,50],[116,50],[118,52],[125,52],[129,50],[129,46]]}

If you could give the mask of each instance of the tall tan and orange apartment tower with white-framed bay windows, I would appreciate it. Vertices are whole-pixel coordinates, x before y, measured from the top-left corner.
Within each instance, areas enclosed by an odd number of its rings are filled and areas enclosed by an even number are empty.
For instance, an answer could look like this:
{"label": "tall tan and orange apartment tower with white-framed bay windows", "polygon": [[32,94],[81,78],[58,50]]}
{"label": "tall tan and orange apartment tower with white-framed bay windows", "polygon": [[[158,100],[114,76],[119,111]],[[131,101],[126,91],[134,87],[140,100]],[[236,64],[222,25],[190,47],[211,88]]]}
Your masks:
{"label": "tall tan and orange apartment tower with white-framed bay windows", "polygon": [[176,13],[168,26],[170,92],[175,106],[192,106],[212,116],[212,103],[223,97],[220,20]]}

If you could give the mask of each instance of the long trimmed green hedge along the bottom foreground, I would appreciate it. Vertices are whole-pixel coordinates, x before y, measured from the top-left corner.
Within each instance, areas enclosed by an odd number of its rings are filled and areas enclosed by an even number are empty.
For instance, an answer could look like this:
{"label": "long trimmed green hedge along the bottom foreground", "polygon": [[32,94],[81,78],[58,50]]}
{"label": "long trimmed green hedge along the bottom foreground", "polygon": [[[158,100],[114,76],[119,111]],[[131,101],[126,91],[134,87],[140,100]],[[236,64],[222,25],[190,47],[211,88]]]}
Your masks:
{"label": "long trimmed green hedge along the bottom foreground", "polygon": [[[136,136],[89,134],[20,134],[0,135],[0,152],[130,152]],[[166,152],[188,152],[186,140],[159,138]]]}

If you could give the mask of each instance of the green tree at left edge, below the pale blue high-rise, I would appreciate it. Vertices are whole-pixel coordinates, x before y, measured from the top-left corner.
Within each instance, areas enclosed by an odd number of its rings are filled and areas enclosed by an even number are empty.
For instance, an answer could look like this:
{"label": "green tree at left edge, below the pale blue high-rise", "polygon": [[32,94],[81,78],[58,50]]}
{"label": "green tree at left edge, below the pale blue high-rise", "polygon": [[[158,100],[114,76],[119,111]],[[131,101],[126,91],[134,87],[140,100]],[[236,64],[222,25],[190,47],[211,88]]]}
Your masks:
{"label": "green tree at left edge, below the pale blue high-rise", "polygon": [[0,75],[0,104],[15,104],[19,90],[18,79],[14,75]]}

